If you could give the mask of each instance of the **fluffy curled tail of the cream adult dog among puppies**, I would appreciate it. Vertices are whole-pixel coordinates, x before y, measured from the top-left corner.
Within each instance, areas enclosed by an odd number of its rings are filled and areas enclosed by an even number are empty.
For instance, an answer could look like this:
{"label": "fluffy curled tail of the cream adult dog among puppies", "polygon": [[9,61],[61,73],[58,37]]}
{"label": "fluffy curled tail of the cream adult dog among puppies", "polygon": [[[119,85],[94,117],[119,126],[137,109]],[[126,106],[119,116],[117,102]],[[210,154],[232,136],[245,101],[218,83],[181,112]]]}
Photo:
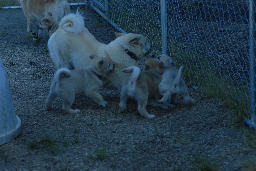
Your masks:
{"label": "fluffy curled tail of the cream adult dog among puppies", "polygon": [[84,17],[77,9],[76,14],[71,13],[61,18],[59,27],[70,33],[81,34],[85,28]]}

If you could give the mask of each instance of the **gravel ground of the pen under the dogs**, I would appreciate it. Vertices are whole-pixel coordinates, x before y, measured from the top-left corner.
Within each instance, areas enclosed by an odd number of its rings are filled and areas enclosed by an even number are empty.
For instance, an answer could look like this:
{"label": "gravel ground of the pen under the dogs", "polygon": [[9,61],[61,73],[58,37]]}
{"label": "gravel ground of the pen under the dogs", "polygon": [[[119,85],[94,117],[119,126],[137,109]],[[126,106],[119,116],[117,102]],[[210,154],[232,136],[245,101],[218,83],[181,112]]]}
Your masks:
{"label": "gravel ground of the pen under the dogs", "polygon": [[[72,9],[75,11],[76,9]],[[81,9],[86,27],[103,43],[115,29],[92,9]],[[256,155],[252,133],[231,123],[235,114],[222,101],[190,90],[196,104],[174,109],[147,107],[154,119],[142,118],[135,101],[118,115],[119,93],[102,89],[109,103],[101,108],[80,96],[79,114],[64,114],[60,99],[46,111],[44,101],[56,67],[47,49],[48,37],[32,42],[21,9],[0,10],[0,55],[7,73],[21,134],[0,146],[4,171],[73,170],[218,170],[239,171],[241,161]],[[243,129],[245,130],[245,129]],[[254,136],[255,138],[255,136]],[[215,163],[215,164],[214,164]]]}

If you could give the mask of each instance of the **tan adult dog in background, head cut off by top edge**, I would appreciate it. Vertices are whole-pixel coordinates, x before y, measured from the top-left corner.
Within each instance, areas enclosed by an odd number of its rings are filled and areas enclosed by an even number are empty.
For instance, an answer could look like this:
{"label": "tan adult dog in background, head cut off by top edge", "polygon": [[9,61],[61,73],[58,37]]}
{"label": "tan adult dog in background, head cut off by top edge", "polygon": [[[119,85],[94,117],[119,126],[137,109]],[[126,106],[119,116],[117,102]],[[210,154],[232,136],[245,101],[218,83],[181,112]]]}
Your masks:
{"label": "tan adult dog in background, head cut off by top edge", "polygon": [[39,30],[38,34],[32,31],[34,19],[39,22],[51,12],[52,17],[59,22],[64,15],[70,13],[67,0],[19,0],[19,2],[27,18],[27,33],[33,37],[33,40],[41,38],[44,34],[43,30]]}

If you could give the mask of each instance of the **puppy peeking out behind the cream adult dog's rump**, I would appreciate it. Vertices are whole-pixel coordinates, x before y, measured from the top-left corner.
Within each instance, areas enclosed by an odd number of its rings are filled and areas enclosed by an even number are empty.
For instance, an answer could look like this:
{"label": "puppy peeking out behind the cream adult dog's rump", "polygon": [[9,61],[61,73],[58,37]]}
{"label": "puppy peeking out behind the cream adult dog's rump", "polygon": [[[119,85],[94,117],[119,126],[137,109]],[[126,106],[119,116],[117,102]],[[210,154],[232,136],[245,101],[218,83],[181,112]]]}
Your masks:
{"label": "puppy peeking out behind the cream adult dog's rump", "polygon": [[59,28],[59,22],[57,22],[52,13],[48,12],[47,16],[43,17],[38,23],[37,28],[48,32],[49,37]]}

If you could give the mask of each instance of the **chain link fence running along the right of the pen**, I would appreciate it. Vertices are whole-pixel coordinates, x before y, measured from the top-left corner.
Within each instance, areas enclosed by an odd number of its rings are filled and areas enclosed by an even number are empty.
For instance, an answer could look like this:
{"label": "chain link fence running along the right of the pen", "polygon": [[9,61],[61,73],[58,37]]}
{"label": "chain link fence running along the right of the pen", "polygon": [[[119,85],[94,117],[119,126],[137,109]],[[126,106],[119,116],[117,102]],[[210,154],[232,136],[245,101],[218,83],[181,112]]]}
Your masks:
{"label": "chain link fence running along the right of the pen", "polygon": [[[218,97],[255,128],[254,0],[69,0],[90,4],[123,33],[145,35],[155,55],[167,53],[187,85]],[[0,7],[19,5],[0,0]]]}

